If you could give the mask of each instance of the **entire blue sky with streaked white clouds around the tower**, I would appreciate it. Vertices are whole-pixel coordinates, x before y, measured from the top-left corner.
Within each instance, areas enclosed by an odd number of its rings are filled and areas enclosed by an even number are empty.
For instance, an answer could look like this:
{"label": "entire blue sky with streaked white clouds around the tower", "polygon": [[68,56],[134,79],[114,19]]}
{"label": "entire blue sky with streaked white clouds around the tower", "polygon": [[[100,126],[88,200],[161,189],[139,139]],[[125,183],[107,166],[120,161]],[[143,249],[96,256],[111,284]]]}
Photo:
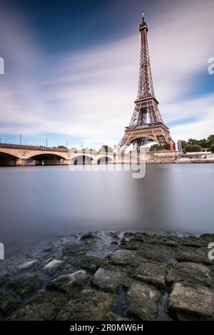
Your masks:
{"label": "entire blue sky with streaked white clouds around the tower", "polygon": [[214,133],[213,0],[0,1],[1,142],[118,144],[138,89],[141,11],[174,140]]}

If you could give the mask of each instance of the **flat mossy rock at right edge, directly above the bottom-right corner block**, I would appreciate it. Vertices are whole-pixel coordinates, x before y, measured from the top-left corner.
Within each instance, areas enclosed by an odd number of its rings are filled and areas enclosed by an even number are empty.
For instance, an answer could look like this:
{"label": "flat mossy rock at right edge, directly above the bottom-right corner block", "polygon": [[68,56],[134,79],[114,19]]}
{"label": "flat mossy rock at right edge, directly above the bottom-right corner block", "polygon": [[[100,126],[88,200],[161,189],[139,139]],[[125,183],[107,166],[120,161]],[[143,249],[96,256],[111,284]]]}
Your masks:
{"label": "flat mossy rock at right edge, directly above the bottom-right corner block", "polygon": [[189,282],[193,284],[211,284],[211,271],[203,264],[193,262],[180,262],[175,265],[175,277],[177,282]]}

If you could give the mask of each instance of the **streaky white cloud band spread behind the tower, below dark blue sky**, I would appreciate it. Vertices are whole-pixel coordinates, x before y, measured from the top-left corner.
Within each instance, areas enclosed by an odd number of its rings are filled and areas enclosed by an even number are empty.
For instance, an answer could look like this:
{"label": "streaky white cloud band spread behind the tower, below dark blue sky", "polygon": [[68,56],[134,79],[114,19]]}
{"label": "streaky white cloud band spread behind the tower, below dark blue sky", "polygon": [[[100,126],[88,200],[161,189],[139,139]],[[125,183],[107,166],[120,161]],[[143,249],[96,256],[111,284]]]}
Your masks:
{"label": "streaky white cloud band spread behind the tower, below dark blue sky", "polygon": [[[183,0],[177,9],[159,14],[149,31],[156,96],[175,140],[213,133],[213,95],[185,98],[213,56],[213,11],[212,1]],[[0,37],[6,61],[0,78],[1,133],[118,143],[136,98],[137,25],[133,36],[57,57],[48,56],[16,16],[0,14],[0,30],[7,31]]]}

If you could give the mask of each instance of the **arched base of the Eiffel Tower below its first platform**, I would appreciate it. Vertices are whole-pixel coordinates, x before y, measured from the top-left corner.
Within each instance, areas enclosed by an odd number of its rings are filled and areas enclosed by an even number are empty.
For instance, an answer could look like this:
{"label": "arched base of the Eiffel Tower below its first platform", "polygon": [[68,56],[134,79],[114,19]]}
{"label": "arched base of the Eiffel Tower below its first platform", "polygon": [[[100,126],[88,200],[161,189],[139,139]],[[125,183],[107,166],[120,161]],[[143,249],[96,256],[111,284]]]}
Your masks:
{"label": "arched base of the Eiffel Tower below its first platform", "polygon": [[151,142],[165,145],[170,143],[171,140],[169,129],[163,123],[126,127],[125,135],[119,143],[119,152],[125,152],[132,143],[139,150],[142,145]]}

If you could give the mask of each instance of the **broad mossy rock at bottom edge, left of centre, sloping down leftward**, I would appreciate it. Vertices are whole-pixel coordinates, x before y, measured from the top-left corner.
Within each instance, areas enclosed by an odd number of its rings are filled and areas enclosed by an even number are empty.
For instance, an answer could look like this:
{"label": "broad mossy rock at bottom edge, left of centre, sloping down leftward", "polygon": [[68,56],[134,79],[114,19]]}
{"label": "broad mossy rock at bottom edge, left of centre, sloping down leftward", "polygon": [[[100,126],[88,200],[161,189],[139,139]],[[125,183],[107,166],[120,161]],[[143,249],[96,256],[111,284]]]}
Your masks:
{"label": "broad mossy rock at bottom edge, left of centre, sloping down leftward", "polygon": [[113,298],[106,292],[84,289],[78,299],[71,299],[56,320],[103,321],[113,307]]}

